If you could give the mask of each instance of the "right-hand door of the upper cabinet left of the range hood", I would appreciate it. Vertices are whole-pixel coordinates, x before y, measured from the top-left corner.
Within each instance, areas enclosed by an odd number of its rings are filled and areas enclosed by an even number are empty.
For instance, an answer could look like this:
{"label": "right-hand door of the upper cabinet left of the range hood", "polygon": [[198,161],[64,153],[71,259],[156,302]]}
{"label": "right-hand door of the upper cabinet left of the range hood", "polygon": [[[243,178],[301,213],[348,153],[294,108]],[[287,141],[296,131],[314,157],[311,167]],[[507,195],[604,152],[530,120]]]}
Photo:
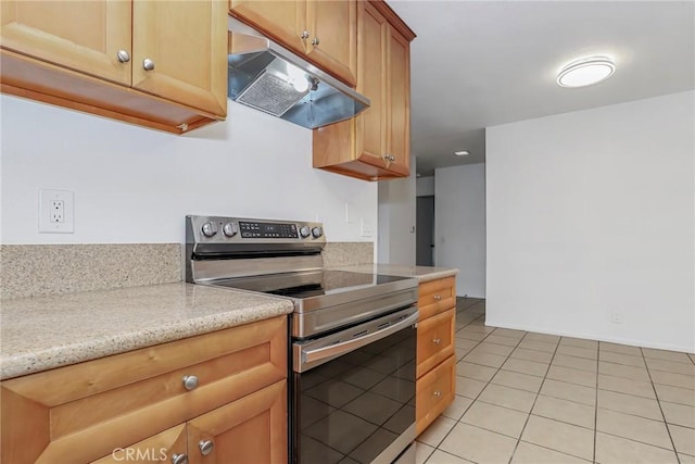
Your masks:
{"label": "right-hand door of the upper cabinet left of the range hood", "polygon": [[135,88],[226,115],[226,2],[136,1],[132,25]]}

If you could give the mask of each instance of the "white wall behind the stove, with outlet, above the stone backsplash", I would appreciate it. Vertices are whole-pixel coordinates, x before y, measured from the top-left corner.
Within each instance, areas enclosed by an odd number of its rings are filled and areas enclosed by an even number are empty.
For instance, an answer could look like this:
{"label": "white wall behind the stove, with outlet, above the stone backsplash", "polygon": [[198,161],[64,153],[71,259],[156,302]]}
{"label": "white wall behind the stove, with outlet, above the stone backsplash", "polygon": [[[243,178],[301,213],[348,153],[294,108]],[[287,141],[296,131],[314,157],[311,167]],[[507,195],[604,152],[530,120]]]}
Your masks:
{"label": "white wall behind the stove, with outlet, above the stone backsplash", "polygon": [[[377,185],[314,170],[311,130],[241,104],[229,102],[226,122],[175,136],[0,103],[3,243],[182,242],[186,214],[318,217],[329,241],[375,240],[359,218],[376,225]],[[38,234],[40,188],[75,192],[75,234]]]}

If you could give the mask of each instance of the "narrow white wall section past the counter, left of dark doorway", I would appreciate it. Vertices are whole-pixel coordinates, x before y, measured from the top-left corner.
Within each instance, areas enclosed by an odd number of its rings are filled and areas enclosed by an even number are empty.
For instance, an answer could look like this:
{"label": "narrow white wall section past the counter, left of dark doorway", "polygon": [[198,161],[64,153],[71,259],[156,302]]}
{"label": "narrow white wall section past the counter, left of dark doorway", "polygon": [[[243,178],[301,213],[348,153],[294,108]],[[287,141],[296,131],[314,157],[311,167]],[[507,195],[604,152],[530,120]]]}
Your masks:
{"label": "narrow white wall section past the counter, left of dark doorway", "polygon": [[415,156],[406,178],[379,183],[377,262],[415,265]]}

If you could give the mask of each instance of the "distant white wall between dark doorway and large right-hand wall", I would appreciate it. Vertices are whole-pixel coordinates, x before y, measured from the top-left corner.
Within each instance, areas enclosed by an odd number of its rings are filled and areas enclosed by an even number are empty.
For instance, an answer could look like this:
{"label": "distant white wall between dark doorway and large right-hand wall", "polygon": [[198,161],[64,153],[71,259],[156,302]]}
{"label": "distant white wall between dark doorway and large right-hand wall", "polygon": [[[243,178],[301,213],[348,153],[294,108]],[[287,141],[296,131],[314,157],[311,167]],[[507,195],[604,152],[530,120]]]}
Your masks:
{"label": "distant white wall between dark doorway and large right-hand wall", "polygon": [[485,165],[434,171],[434,262],[457,267],[456,294],[485,298]]}

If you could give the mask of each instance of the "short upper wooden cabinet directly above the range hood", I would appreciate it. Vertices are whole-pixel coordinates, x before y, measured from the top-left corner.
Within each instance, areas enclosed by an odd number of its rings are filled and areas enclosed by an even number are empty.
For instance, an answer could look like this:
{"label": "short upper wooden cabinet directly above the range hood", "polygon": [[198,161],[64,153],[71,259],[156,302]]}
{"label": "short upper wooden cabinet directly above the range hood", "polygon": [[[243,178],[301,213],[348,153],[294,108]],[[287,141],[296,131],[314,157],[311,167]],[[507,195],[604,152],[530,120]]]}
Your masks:
{"label": "short upper wooden cabinet directly above the range hood", "polygon": [[355,86],[356,0],[230,0],[230,12],[345,84]]}

